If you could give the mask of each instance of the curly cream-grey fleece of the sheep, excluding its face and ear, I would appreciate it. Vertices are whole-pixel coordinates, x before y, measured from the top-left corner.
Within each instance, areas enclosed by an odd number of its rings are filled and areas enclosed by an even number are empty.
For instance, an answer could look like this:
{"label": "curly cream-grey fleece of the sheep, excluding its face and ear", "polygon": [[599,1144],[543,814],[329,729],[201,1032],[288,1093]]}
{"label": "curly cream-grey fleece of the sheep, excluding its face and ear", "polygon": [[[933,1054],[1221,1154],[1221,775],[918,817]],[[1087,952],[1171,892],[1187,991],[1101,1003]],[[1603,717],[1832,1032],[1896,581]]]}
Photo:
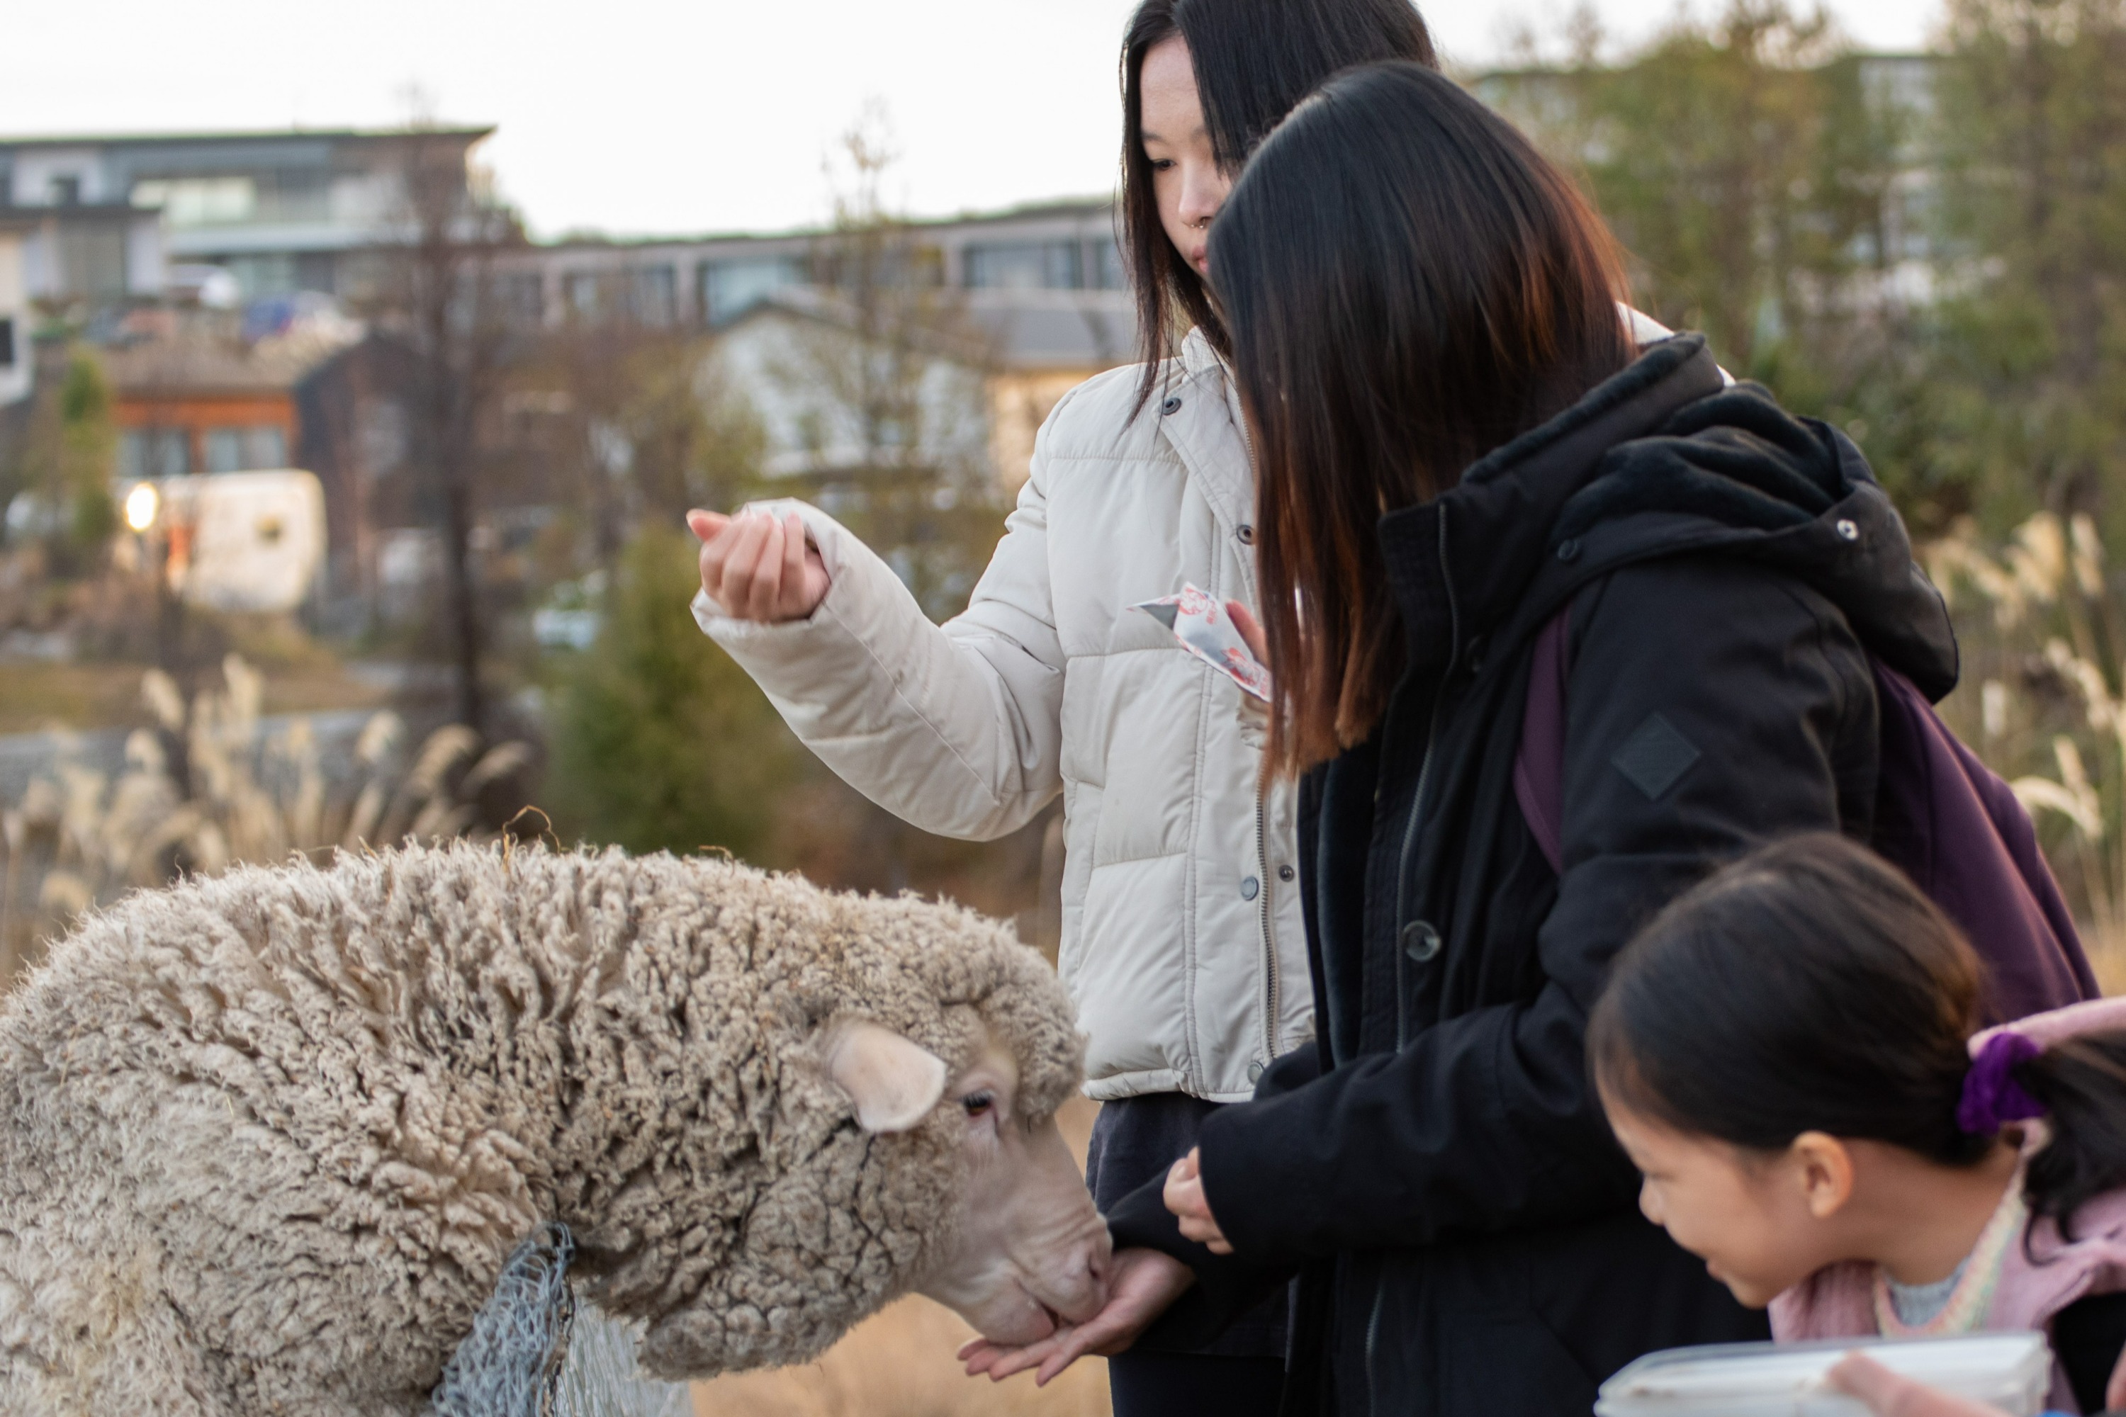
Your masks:
{"label": "curly cream-grey fleece of the sheep, excluding its face and ear", "polygon": [[712,858],[472,846],[136,894],[0,1013],[0,1413],[419,1413],[559,1219],[661,1377],[802,1362],[952,1243],[961,1126],[867,1137],[870,1018],[1048,1113],[1006,926]]}

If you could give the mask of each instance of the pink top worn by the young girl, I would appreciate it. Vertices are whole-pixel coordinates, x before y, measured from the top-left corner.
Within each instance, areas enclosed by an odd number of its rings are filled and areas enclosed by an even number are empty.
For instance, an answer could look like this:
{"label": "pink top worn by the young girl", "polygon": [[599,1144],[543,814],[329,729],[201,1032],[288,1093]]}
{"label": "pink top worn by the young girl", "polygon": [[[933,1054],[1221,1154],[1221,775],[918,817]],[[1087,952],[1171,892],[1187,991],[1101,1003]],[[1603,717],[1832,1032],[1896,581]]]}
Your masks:
{"label": "pink top worn by the young girl", "polygon": [[[2041,1045],[2077,1032],[2126,1028],[2126,998],[2094,998],[2007,1026]],[[1981,1032],[1971,1039],[1973,1052],[1986,1037]],[[2024,1154],[2037,1151],[2043,1139],[2043,1128],[2032,1126]],[[2120,1290],[2126,1290],[2126,1190],[2107,1192],[2075,1213],[2073,1245],[2060,1243],[2060,1230],[2049,1219],[2030,1226],[2028,1245],[2022,1239],[2009,1245],[1979,1328],[2049,1330],[2052,1315],[2077,1298]],[[1875,1266],[1869,1262],[1824,1266],[1771,1300],[1771,1336],[1779,1343],[1877,1334]],[[2058,1364],[2052,1368],[2049,1402],[2062,1413],[2081,1411]]]}

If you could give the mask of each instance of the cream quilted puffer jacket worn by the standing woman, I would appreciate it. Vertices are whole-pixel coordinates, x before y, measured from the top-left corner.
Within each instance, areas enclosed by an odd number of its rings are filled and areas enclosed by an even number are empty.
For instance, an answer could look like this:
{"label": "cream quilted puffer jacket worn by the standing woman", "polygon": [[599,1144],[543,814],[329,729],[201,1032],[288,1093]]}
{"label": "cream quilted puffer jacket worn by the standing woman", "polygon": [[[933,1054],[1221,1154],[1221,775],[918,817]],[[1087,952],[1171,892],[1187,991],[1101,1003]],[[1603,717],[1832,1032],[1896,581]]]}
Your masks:
{"label": "cream quilted puffer jacket worn by the standing woman", "polygon": [[1314,1026],[1295,795],[1256,790],[1239,688],[1129,605],[1193,582],[1256,603],[1239,402],[1199,336],[1131,412],[1142,365],[1057,404],[967,612],[931,625],[825,512],[808,620],[695,618],[836,773],[946,837],[1001,837],[1063,795],[1063,981],[1086,1092],[1244,1100]]}

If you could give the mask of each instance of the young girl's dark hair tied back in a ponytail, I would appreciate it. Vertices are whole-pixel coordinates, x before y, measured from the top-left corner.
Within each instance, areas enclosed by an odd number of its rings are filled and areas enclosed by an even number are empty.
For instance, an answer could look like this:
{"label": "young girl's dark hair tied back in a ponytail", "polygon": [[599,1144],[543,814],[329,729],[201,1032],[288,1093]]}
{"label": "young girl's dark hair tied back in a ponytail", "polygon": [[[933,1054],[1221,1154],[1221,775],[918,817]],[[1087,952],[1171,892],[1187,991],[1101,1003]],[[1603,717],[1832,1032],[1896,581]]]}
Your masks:
{"label": "young girl's dark hair tied back in a ponytail", "polygon": [[[1588,1022],[1603,1096],[1686,1134],[1784,1151],[1801,1132],[1886,1141],[1943,1166],[1994,1137],[1956,1126],[1984,967],[1901,871],[1828,833],[1767,846],[1671,903],[1618,956]],[[2052,1141],[2032,1217],[2126,1185],[2126,1032],[2056,1043],[2013,1077]]]}

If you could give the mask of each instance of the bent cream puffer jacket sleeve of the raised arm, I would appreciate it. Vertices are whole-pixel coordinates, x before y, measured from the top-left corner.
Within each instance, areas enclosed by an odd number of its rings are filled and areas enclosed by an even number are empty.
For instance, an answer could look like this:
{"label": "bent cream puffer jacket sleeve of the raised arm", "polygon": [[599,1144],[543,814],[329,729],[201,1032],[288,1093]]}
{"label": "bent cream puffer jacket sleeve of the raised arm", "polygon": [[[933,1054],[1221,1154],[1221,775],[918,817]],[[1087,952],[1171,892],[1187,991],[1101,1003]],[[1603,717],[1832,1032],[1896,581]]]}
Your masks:
{"label": "bent cream puffer jacket sleeve of the raised arm", "polygon": [[1063,644],[1048,580],[1048,429],[965,614],[931,625],[899,576],[802,501],[827,563],[806,620],[733,620],[706,595],[693,614],[753,676],[827,767],[887,812],[942,837],[991,839],[1063,788]]}

